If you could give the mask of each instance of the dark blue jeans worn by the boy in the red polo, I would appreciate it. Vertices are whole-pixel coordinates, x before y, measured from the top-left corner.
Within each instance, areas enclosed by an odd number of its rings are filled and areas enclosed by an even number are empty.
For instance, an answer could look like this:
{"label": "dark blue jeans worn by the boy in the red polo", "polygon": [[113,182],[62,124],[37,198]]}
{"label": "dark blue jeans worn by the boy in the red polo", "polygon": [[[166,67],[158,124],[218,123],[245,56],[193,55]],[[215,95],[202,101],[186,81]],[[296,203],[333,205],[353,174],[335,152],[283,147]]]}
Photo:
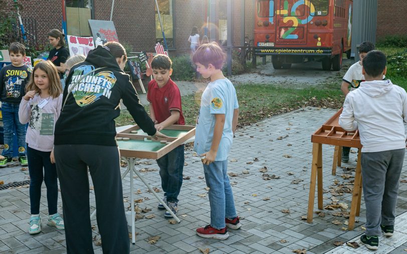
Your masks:
{"label": "dark blue jeans worn by the boy in the red polo", "polygon": [[157,159],[160,168],[161,187],[168,202],[178,202],[184,168],[184,145],[179,145]]}

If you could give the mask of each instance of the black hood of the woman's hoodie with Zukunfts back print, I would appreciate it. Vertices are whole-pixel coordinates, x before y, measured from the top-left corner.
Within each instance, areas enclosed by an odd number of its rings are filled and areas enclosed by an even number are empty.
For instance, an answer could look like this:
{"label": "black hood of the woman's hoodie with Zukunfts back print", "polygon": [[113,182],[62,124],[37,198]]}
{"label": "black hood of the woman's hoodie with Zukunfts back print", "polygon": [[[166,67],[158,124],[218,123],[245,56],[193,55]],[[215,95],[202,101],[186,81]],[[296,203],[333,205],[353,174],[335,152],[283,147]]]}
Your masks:
{"label": "black hood of the woman's hoodie with Zukunfts back print", "polygon": [[97,48],[90,50],[85,61],[96,67],[109,67],[116,71],[122,71],[119,64],[117,64],[116,58],[114,58],[110,53],[110,49],[106,46],[99,45]]}

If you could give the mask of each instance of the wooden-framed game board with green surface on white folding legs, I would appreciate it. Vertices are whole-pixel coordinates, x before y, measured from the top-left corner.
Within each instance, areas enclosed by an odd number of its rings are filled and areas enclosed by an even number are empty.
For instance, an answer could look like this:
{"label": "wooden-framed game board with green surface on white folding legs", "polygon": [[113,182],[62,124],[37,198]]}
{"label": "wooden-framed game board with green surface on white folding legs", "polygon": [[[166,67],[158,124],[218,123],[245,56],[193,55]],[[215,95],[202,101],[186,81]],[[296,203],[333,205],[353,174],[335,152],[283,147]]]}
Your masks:
{"label": "wooden-framed game board with green surface on white folding legs", "polygon": [[117,133],[120,156],[158,159],[195,135],[195,126],[170,125],[160,131],[168,138],[152,139],[138,125]]}

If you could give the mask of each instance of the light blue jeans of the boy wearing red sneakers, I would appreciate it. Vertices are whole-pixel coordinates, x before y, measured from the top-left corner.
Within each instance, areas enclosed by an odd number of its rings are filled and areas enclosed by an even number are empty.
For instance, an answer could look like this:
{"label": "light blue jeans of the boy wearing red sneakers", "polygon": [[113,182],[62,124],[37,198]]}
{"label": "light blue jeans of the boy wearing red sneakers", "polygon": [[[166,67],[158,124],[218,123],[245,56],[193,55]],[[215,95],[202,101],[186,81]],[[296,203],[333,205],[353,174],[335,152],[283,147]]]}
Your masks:
{"label": "light blue jeans of the boy wearing red sneakers", "polygon": [[210,188],[211,226],[217,229],[226,226],[225,218],[237,216],[227,170],[228,160],[214,161],[209,165],[203,164],[205,180]]}

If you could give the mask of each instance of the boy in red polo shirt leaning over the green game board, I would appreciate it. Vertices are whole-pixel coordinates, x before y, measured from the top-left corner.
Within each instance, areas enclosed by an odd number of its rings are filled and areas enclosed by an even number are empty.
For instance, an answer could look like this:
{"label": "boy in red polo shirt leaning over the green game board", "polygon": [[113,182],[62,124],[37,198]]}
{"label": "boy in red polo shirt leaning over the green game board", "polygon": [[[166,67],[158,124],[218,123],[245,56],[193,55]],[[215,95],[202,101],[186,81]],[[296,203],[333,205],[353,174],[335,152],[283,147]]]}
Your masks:
{"label": "boy in red polo shirt leaning over the green game board", "polygon": [[[181,94],[178,86],[169,77],[172,74],[172,61],[165,54],[157,54],[151,61],[154,79],[148,83],[147,100],[150,102],[150,115],[157,131],[171,124],[185,124],[182,115]],[[157,159],[160,168],[163,201],[174,214],[178,211],[178,194],[182,185],[184,166],[184,145],[181,144]],[[158,209],[165,209],[158,203]],[[165,211],[164,217],[172,218]]]}

